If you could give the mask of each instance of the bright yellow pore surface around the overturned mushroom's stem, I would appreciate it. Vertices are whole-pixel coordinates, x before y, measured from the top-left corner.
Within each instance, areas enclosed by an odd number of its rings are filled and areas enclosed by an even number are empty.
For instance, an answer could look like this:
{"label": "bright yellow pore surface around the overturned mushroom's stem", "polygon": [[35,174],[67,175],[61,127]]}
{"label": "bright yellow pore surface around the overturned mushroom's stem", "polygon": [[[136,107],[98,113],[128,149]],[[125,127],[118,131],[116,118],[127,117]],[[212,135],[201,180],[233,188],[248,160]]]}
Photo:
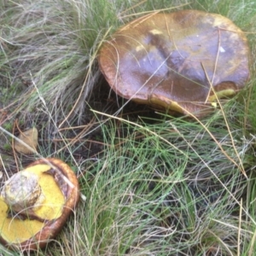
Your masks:
{"label": "bright yellow pore surface around the overturned mushroom's stem", "polygon": [[7,218],[8,206],[0,197],[0,236],[5,241],[9,243],[26,241],[42,230],[47,220],[61,216],[65,198],[55,183],[54,177],[44,173],[49,169],[50,166],[48,165],[31,166],[26,169],[26,171],[35,173],[39,177],[39,184],[45,200],[42,202],[42,206],[37,207],[34,212],[38,217],[46,219],[44,223],[38,220]]}

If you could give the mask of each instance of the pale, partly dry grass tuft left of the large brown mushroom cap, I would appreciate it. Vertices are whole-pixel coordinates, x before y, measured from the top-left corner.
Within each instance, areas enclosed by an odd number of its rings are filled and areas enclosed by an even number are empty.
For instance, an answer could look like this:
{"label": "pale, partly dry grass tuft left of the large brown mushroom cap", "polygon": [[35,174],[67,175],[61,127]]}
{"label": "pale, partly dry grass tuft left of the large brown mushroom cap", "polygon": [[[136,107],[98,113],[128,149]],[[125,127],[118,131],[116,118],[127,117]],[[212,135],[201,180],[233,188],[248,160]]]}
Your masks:
{"label": "pale, partly dry grass tuft left of the large brown mushroom cap", "polygon": [[16,112],[38,110],[44,99],[56,118],[82,115],[100,80],[97,51],[109,33],[129,20],[122,15],[134,14],[137,4],[132,6],[118,0],[0,3],[3,77],[8,90],[25,84],[21,98],[11,93]]}

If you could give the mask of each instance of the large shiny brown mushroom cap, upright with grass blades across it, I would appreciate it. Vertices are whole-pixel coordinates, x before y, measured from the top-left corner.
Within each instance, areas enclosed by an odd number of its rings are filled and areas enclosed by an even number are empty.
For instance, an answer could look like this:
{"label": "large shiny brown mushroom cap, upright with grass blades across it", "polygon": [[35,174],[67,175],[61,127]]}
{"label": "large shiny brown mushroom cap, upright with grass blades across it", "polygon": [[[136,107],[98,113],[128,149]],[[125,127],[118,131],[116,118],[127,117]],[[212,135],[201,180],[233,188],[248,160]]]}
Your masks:
{"label": "large shiny brown mushroom cap, upright with grass blades across it", "polygon": [[228,18],[198,10],[131,21],[102,44],[98,61],[119,96],[198,117],[249,79],[244,33]]}

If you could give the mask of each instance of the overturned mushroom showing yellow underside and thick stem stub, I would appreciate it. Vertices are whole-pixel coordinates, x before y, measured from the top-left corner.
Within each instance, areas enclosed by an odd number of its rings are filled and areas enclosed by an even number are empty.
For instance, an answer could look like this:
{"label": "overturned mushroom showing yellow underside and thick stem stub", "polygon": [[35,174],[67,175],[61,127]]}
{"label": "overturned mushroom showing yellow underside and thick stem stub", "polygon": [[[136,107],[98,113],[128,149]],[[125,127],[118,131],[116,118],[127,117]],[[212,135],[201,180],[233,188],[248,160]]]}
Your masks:
{"label": "overturned mushroom showing yellow underside and thick stem stub", "polygon": [[0,241],[13,250],[43,248],[78,202],[79,183],[73,170],[61,160],[37,160],[3,186]]}

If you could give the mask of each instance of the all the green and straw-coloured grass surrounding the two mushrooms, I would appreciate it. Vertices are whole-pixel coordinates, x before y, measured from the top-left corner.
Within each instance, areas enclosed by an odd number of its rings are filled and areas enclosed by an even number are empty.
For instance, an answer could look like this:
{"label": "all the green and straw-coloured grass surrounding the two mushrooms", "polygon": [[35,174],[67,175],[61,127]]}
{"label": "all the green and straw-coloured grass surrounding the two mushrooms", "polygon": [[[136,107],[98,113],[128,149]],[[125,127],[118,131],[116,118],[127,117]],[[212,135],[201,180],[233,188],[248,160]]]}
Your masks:
{"label": "all the green and straw-coloured grass surrounding the two mushrooms", "polygon": [[[47,1],[0,3],[2,126],[36,126],[38,153],[73,167],[86,201],[37,255],[254,255],[255,3]],[[247,32],[247,90],[205,119],[174,118],[109,94],[97,52],[119,26],[155,9],[225,15]],[[120,111],[122,110],[122,111]],[[117,111],[119,114],[117,115]],[[16,124],[16,125],[15,125]],[[11,126],[11,127],[10,127]],[[3,174],[37,155],[7,133]],[[5,175],[6,176],[6,175]],[[10,253],[0,247],[0,254]]]}

